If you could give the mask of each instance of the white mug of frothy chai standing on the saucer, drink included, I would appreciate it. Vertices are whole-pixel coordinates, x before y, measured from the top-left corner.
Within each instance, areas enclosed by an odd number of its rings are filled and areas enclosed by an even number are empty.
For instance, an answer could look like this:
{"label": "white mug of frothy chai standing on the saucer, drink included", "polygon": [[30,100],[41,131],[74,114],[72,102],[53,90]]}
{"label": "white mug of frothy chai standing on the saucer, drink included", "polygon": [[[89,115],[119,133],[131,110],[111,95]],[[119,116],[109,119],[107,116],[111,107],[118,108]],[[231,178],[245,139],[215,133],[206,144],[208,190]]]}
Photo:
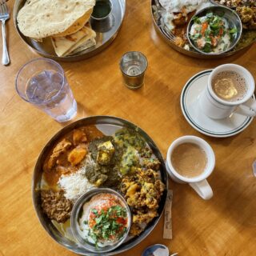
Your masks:
{"label": "white mug of frothy chai standing on the saucer, drink included", "polygon": [[213,119],[229,118],[233,113],[254,117],[254,89],[254,77],[243,66],[217,66],[199,96],[199,106],[204,114]]}

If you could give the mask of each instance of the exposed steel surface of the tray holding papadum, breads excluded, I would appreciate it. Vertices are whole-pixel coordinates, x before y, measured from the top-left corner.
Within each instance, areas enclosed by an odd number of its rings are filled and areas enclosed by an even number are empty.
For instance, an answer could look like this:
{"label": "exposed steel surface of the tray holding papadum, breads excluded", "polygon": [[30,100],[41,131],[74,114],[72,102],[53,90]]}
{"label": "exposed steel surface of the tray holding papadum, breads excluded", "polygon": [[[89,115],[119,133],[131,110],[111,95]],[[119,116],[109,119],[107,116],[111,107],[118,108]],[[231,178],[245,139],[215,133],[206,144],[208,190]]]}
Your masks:
{"label": "exposed steel surface of the tray holding papadum, breads excluded", "polygon": [[30,46],[30,48],[35,50],[38,54],[62,62],[72,62],[90,58],[105,49],[106,46],[109,46],[118,34],[118,30],[122,25],[122,20],[126,11],[126,0],[111,0],[113,8],[110,16],[106,18],[106,20],[96,21],[90,18],[90,26],[96,32],[96,46],[82,50],[78,54],[58,57],[58,55],[55,54],[54,46],[52,46],[50,38],[43,39],[43,42],[36,42],[33,39],[24,36],[18,29],[17,14],[22,6],[24,6],[25,2],[26,0],[16,0],[14,4],[14,25],[19,36],[26,45]]}

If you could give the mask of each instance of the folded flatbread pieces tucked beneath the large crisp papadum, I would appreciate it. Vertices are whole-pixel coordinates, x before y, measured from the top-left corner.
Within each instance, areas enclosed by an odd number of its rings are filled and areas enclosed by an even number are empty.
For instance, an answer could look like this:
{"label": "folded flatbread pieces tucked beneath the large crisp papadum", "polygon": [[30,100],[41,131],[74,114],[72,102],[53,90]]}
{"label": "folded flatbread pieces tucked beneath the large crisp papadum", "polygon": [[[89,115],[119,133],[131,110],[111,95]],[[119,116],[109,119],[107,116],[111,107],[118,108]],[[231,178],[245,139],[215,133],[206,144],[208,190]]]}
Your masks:
{"label": "folded flatbread pieces tucked beneath the large crisp papadum", "polygon": [[96,44],[95,37],[94,30],[84,26],[82,30],[66,37],[51,37],[51,41],[58,57],[63,57],[94,46]]}

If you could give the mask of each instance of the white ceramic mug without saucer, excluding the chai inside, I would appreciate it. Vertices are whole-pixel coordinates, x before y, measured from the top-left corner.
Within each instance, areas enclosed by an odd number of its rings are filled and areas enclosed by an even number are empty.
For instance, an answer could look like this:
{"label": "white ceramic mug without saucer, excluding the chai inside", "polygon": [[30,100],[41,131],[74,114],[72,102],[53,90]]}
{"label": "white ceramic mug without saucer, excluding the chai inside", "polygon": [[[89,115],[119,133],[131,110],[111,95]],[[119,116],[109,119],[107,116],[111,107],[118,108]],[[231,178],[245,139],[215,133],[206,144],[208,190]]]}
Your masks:
{"label": "white ceramic mug without saucer, excluding the chai inside", "polygon": [[[178,145],[183,143],[194,143],[202,148],[204,152],[206,152],[207,163],[206,168],[202,172],[202,174],[193,177],[187,178],[182,176],[175,170],[174,166],[171,162],[171,155],[174,151],[174,148]],[[214,150],[212,150],[211,146],[202,138],[196,136],[183,136],[176,139],[174,142],[171,143],[166,156],[166,170],[170,175],[170,178],[174,180],[174,182],[178,183],[188,183],[198,194],[201,198],[207,200],[212,198],[214,195],[213,190],[211,189],[209,183],[207,182],[206,178],[210,176],[213,172],[215,166],[215,155]]]}

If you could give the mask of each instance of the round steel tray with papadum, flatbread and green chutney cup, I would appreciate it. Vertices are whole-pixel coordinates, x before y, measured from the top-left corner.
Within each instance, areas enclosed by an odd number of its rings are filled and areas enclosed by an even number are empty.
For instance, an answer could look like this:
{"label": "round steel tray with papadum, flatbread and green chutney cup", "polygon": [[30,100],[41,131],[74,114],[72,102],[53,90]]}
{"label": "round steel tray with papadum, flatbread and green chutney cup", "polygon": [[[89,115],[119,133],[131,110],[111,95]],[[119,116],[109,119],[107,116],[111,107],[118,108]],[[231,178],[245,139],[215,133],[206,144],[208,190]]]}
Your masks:
{"label": "round steel tray with papadum, flatbread and green chutney cup", "polygon": [[118,34],[125,0],[16,0],[14,25],[38,54],[77,61],[98,54]]}

